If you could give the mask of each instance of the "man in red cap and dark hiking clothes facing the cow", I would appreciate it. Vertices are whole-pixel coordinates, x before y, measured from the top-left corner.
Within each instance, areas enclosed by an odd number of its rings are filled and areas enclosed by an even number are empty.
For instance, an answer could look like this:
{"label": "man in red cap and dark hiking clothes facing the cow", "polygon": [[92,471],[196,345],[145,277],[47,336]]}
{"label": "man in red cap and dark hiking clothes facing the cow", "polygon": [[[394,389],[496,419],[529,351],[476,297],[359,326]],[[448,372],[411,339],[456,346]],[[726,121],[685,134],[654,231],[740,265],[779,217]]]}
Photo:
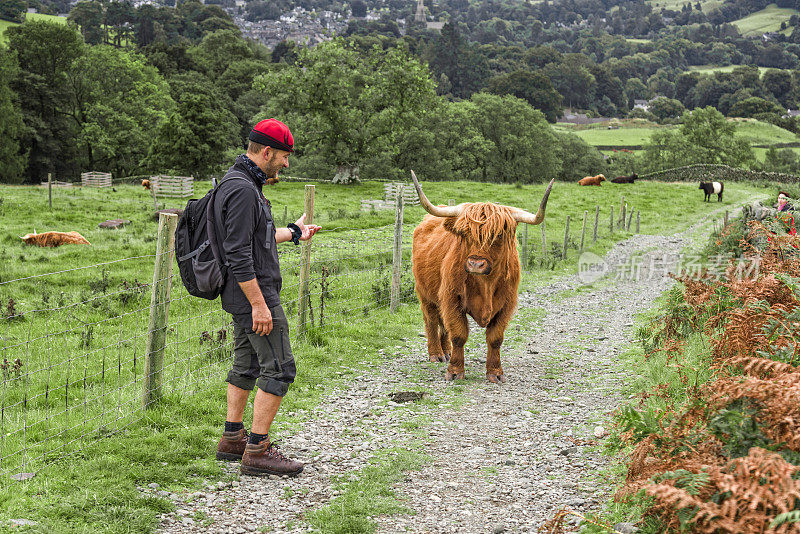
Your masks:
{"label": "man in red cap and dark hiking clothes facing the cow", "polygon": [[[289,154],[294,151],[289,128],[276,119],[264,120],[252,129],[249,140],[247,153],[236,158],[218,186],[214,203],[217,235],[228,265],[222,307],[234,321],[228,414],[217,458],[241,458],[243,474],[296,476],[303,464],[286,458],[268,436],[296,373],[289,323],[279,297],[277,244],[307,241],[320,227],[305,224],[304,213],[287,228],[276,228],[270,202],[261,192],[264,184],[278,183],[278,171],[289,166]],[[254,386],[253,426],[248,436],[242,418]]]}

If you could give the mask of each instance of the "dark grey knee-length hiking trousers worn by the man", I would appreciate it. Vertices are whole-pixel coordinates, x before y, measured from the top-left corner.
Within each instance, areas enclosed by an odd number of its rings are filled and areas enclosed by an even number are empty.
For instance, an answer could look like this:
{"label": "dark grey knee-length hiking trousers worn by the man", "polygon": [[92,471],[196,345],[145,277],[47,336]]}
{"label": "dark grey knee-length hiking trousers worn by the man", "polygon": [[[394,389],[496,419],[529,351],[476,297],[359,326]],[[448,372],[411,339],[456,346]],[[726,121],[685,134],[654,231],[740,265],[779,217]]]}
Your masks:
{"label": "dark grey knee-length hiking trousers worn by the man", "polygon": [[272,331],[259,336],[253,332],[252,315],[233,316],[233,368],[227,382],[252,390],[259,389],[283,397],[294,382],[297,368],[289,346],[289,322],[279,304],[270,308]]}

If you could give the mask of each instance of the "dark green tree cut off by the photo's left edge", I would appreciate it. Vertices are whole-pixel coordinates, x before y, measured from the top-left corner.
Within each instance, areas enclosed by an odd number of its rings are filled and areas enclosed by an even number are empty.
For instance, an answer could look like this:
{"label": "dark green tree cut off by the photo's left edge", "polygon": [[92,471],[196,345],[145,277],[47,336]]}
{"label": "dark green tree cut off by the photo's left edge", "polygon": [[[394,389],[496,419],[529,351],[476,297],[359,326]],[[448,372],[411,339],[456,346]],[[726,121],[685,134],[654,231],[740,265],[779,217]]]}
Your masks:
{"label": "dark green tree cut off by the photo's left edge", "polygon": [[17,106],[17,95],[11,81],[19,74],[14,52],[0,46],[0,182],[19,183],[27,164],[28,154],[20,147],[24,123]]}

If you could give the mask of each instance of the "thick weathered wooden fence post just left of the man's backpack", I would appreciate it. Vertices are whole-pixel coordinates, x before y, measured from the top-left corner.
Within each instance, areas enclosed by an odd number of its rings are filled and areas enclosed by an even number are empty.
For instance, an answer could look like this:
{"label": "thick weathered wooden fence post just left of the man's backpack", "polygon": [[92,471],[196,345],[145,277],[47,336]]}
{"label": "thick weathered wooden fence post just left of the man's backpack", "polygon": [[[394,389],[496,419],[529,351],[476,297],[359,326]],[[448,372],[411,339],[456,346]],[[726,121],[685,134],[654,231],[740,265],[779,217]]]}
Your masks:
{"label": "thick weathered wooden fence post just left of the man's backpack", "polygon": [[172,258],[175,255],[175,228],[178,216],[162,213],[158,217],[156,263],[153,287],[150,291],[150,323],[147,328],[147,358],[144,363],[142,407],[147,408],[161,399],[164,347],[167,341],[170,291],[172,289]]}

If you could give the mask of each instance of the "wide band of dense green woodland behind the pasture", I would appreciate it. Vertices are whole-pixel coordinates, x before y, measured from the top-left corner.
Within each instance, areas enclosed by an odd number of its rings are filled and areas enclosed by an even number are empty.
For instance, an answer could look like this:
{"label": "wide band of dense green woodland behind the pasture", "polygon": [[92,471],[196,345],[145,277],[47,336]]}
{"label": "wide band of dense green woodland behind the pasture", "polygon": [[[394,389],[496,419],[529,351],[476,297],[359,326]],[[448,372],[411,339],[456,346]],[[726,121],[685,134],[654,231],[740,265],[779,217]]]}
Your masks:
{"label": "wide band of dense green woodland behind the pasture", "polygon": [[[685,153],[680,142],[658,139],[659,150],[641,157],[604,157],[550,126],[565,104],[683,125],[687,110],[713,106],[719,117],[723,111],[797,130],[794,119],[781,117],[783,106],[798,101],[796,72],[741,67],[681,72],[672,81],[653,62],[680,57],[692,48],[686,40],[617,57],[613,46],[630,44],[600,35],[595,45],[585,43],[603,51],[600,63],[551,45],[505,47],[489,61],[485,47],[445,25],[441,34],[354,33],[270,51],[243,39],[224,11],[195,0],[174,9],[142,6],[135,17],[150,9],[161,15],[135,18],[122,25],[126,31],[108,14],[111,4],[100,26],[87,23],[81,10],[91,3],[76,5],[68,25],[31,21],[7,30],[0,47],[4,182],[38,182],[47,173],[75,178],[85,170],[210,176],[243,150],[252,123],[268,116],[296,132],[293,172],[342,181],[400,178],[409,168],[437,180],[571,180],[655,169],[670,161],[669,150]],[[651,72],[645,81],[636,76],[642,72]],[[633,100],[656,94],[663,97],[649,112],[628,111]],[[724,153],[761,165],[745,148]],[[795,165],[792,154],[771,151],[767,164]]]}

